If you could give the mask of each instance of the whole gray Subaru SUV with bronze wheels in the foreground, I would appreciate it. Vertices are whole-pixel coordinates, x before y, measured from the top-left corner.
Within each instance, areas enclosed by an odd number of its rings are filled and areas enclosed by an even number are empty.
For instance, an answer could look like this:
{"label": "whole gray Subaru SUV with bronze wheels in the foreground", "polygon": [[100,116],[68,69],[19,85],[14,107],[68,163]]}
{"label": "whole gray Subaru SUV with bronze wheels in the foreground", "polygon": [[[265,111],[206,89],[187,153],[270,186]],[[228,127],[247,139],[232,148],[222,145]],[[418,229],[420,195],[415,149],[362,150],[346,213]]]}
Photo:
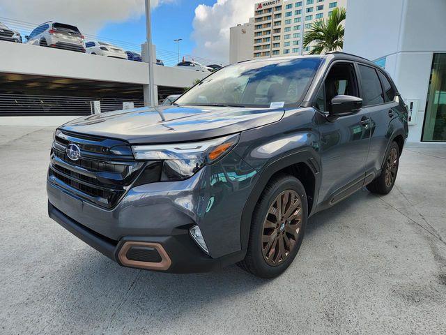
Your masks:
{"label": "whole gray Subaru SUV with bronze wheels in the foreground", "polygon": [[54,133],[49,216],[125,267],[281,274],[309,216],[392,190],[408,135],[397,88],[342,52],[245,61],[174,105]]}

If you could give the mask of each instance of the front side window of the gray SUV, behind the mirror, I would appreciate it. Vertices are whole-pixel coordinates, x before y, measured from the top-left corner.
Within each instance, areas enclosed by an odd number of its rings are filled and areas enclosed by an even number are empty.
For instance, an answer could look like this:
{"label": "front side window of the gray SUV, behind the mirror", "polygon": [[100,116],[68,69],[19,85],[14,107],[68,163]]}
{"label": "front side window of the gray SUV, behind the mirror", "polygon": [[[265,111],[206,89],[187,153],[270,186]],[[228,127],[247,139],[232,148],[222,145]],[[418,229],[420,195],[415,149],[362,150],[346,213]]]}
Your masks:
{"label": "front side window of the gray SUV, behind the mirror", "polygon": [[359,97],[355,67],[351,63],[337,63],[330,68],[318,91],[314,107],[321,112],[331,112],[332,98],[339,95]]}

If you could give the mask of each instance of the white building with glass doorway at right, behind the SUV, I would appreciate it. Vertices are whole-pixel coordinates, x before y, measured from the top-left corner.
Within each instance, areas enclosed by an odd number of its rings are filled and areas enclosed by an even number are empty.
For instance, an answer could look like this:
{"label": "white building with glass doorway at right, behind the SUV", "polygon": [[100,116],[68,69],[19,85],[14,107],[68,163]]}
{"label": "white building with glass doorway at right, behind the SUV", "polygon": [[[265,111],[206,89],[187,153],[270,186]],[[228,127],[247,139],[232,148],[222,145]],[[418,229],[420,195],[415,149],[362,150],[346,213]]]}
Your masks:
{"label": "white building with glass doorway at right, behind the SUV", "polygon": [[445,17],[445,0],[348,3],[344,51],[392,76],[410,111],[408,142],[446,142]]}

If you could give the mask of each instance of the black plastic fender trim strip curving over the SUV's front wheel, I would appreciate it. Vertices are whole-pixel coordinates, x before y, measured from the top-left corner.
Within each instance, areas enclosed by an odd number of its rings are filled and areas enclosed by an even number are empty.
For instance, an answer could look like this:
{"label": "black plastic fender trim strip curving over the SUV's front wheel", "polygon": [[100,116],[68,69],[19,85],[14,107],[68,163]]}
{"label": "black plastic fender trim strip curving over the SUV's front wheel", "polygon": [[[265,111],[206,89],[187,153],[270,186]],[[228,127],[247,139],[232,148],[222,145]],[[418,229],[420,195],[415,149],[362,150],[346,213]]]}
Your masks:
{"label": "black plastic fender trim strip curving over the SUV's front wheel", "polygon": [[245,207],[243,208],[242,219],[240,222],[240,245],[242,246],[243,251],[247,250],[249,241],[249,230],[251,230],[251,221],[254,207],[256,207],[256,204],[259,201],[260,195],[265,189],[266,184],[268,184],[268,181],[276,172],[297,163],[305,163],[305,165],[307,165],[309,170],[311,170],[314,174],[315,180],[314,201],[311,209],[311,212],[314,213],[318,198],[317,195],[319,191],[319,185],[321,184],[321,173],[319,173],[321,168],[319,167],[317,162],[318,157],[316,156],[316,152],[312,153],[309,149],[303,149],[294,152],[293,154],[288,154],[286,156],[277,158],[275,159],[275,161],[271,161],[270,163],[266,163],[266,167],[263,168],[261,173],[259,174],[259,178],[252,188],[252,191],[247,198]]}

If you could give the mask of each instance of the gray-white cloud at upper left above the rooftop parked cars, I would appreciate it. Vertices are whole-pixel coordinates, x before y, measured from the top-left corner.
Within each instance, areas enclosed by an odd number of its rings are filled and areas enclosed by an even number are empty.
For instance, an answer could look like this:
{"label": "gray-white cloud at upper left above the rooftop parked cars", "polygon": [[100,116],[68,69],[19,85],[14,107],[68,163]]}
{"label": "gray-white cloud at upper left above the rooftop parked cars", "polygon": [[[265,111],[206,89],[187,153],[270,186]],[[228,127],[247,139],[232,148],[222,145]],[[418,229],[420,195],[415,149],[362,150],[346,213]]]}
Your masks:
{"label": "gray-white cloud at upper left above the rooftop parked cars", "polygon": [[[151,7],[175,1],[151,0]],[[0,0],[1,17],[33,24],[74,24],[84,34],[95,34],[108,22],[124,22],[141,15],[144,0]]]}

